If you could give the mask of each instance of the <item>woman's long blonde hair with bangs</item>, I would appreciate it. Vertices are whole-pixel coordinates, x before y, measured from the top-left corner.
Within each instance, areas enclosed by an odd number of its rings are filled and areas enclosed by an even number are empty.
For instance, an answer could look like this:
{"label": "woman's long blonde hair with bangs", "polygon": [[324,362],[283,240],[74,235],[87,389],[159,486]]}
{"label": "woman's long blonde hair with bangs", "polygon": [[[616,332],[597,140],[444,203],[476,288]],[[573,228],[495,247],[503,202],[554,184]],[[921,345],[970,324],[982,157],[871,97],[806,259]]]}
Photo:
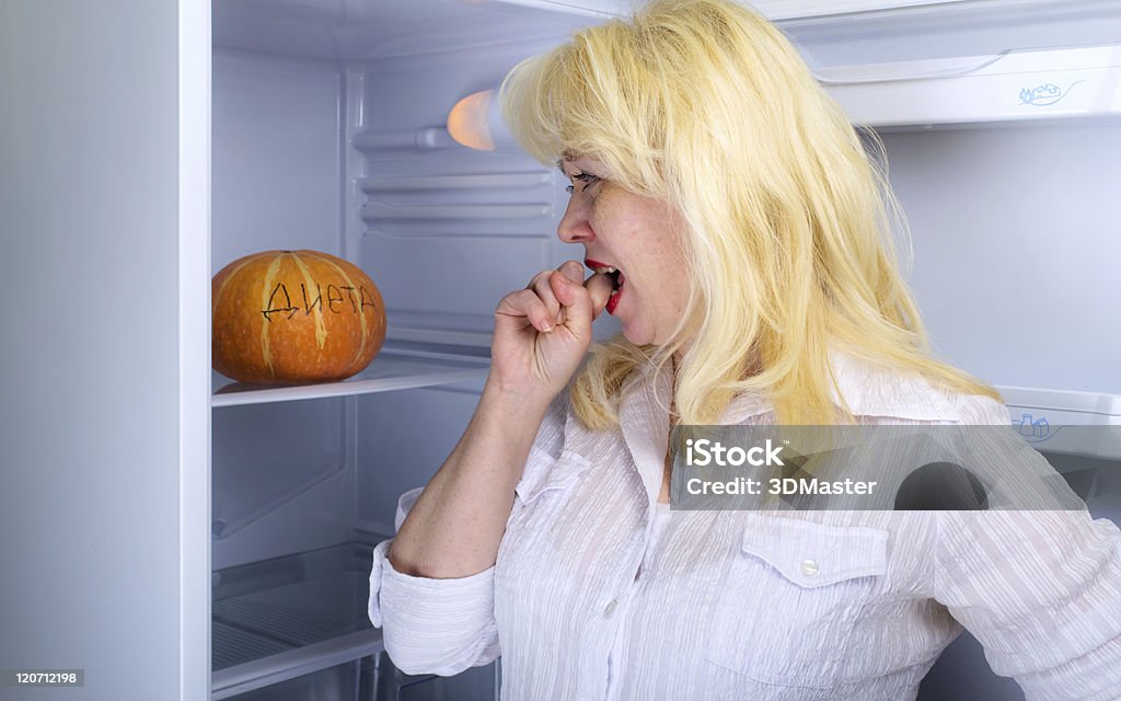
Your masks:
{"label": "woman's long blonde hair with bangs", "polygon": [[[591,155],[630,192],[680,214],[687,312],[663,345],[594,343],[571,385],[587,426],[618,425],[620,389],[661,371],[688,342],[675,402],[683,424],[715,423],[762,393],[780,424],[853,423],[831,399],[833,348],[995,399],[935,359],[895,262],[889,209],[906,220],[876,158],[797,50],[730,0],[654,0],[630,21],[576,33],[519,63],[499,99],[515,139],[541,164]],[[868,137],[887,163],[882,141]],[[840,396],[840,391],[837,393]]]}

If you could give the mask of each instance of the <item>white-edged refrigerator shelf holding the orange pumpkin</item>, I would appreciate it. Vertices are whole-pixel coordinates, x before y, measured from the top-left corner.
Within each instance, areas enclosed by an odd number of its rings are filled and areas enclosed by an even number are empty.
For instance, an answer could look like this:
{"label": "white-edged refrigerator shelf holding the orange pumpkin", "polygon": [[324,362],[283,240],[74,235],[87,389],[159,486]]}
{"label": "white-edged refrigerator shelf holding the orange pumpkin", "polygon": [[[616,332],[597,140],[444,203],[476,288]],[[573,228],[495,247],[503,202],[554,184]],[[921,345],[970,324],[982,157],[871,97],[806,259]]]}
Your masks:
{"label": "white-edged refrigerator shelf holding the orange pumpkin", "polygon": [[[478,352],[479,349],[473,349]],[[345,397],[376,391],[414,389],[485,379],[490,358],[382,348],[370,366],[336,382],[307,385],[250,385],[212,372],[212,407]]]}

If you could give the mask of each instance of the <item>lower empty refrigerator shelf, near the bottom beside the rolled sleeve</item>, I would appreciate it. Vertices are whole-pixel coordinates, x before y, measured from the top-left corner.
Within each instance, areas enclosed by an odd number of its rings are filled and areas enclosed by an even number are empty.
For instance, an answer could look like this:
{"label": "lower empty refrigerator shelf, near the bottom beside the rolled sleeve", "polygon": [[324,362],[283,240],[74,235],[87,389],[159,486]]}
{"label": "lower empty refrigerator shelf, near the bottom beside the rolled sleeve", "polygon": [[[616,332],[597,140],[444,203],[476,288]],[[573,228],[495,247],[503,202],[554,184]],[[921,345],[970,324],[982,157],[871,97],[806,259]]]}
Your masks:
{"label": "lower empty refrigerator shelf, near the bottom beside the rolled sleeve", "polygon": [[379,654],[367,614],[372,553],[346,543],[215,572],[211,698]]}

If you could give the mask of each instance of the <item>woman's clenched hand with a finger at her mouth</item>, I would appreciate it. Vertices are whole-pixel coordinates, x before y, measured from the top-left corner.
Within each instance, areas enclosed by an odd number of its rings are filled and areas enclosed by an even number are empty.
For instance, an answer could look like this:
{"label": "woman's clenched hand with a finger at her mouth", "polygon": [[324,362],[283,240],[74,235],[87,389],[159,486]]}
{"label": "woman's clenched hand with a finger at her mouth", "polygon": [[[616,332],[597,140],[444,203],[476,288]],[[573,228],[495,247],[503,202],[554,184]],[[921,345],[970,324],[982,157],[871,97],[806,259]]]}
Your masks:
{"label": "woman's clenched hand with a finger at her mouth", "polygon": [[552,400],[580,366],[592,342],[592,321],[611,296],[606,275],[584,280],[584,266],[565,261],[543,270],[494,310],[490,380]]}

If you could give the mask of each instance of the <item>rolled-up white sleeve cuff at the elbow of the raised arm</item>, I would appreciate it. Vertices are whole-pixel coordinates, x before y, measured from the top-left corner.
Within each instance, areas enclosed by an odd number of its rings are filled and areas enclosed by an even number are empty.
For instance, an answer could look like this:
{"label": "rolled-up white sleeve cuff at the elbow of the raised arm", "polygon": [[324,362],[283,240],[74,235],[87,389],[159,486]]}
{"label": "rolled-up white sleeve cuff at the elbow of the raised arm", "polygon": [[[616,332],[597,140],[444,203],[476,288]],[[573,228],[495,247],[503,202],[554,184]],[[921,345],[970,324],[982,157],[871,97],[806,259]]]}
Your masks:
{"label": "rolled-up white sleeve cuff at the elbow of the raised arm", "polygon": [[[397,502],[395,531],[420,496]],[[429,579],[393,569],[386,553],[392,538],[373,548],[370,622],[381,628],[386,652],[406,674],[451,676],[493,662],[500,654],[494,624],[494,568],[469,577]]]}

